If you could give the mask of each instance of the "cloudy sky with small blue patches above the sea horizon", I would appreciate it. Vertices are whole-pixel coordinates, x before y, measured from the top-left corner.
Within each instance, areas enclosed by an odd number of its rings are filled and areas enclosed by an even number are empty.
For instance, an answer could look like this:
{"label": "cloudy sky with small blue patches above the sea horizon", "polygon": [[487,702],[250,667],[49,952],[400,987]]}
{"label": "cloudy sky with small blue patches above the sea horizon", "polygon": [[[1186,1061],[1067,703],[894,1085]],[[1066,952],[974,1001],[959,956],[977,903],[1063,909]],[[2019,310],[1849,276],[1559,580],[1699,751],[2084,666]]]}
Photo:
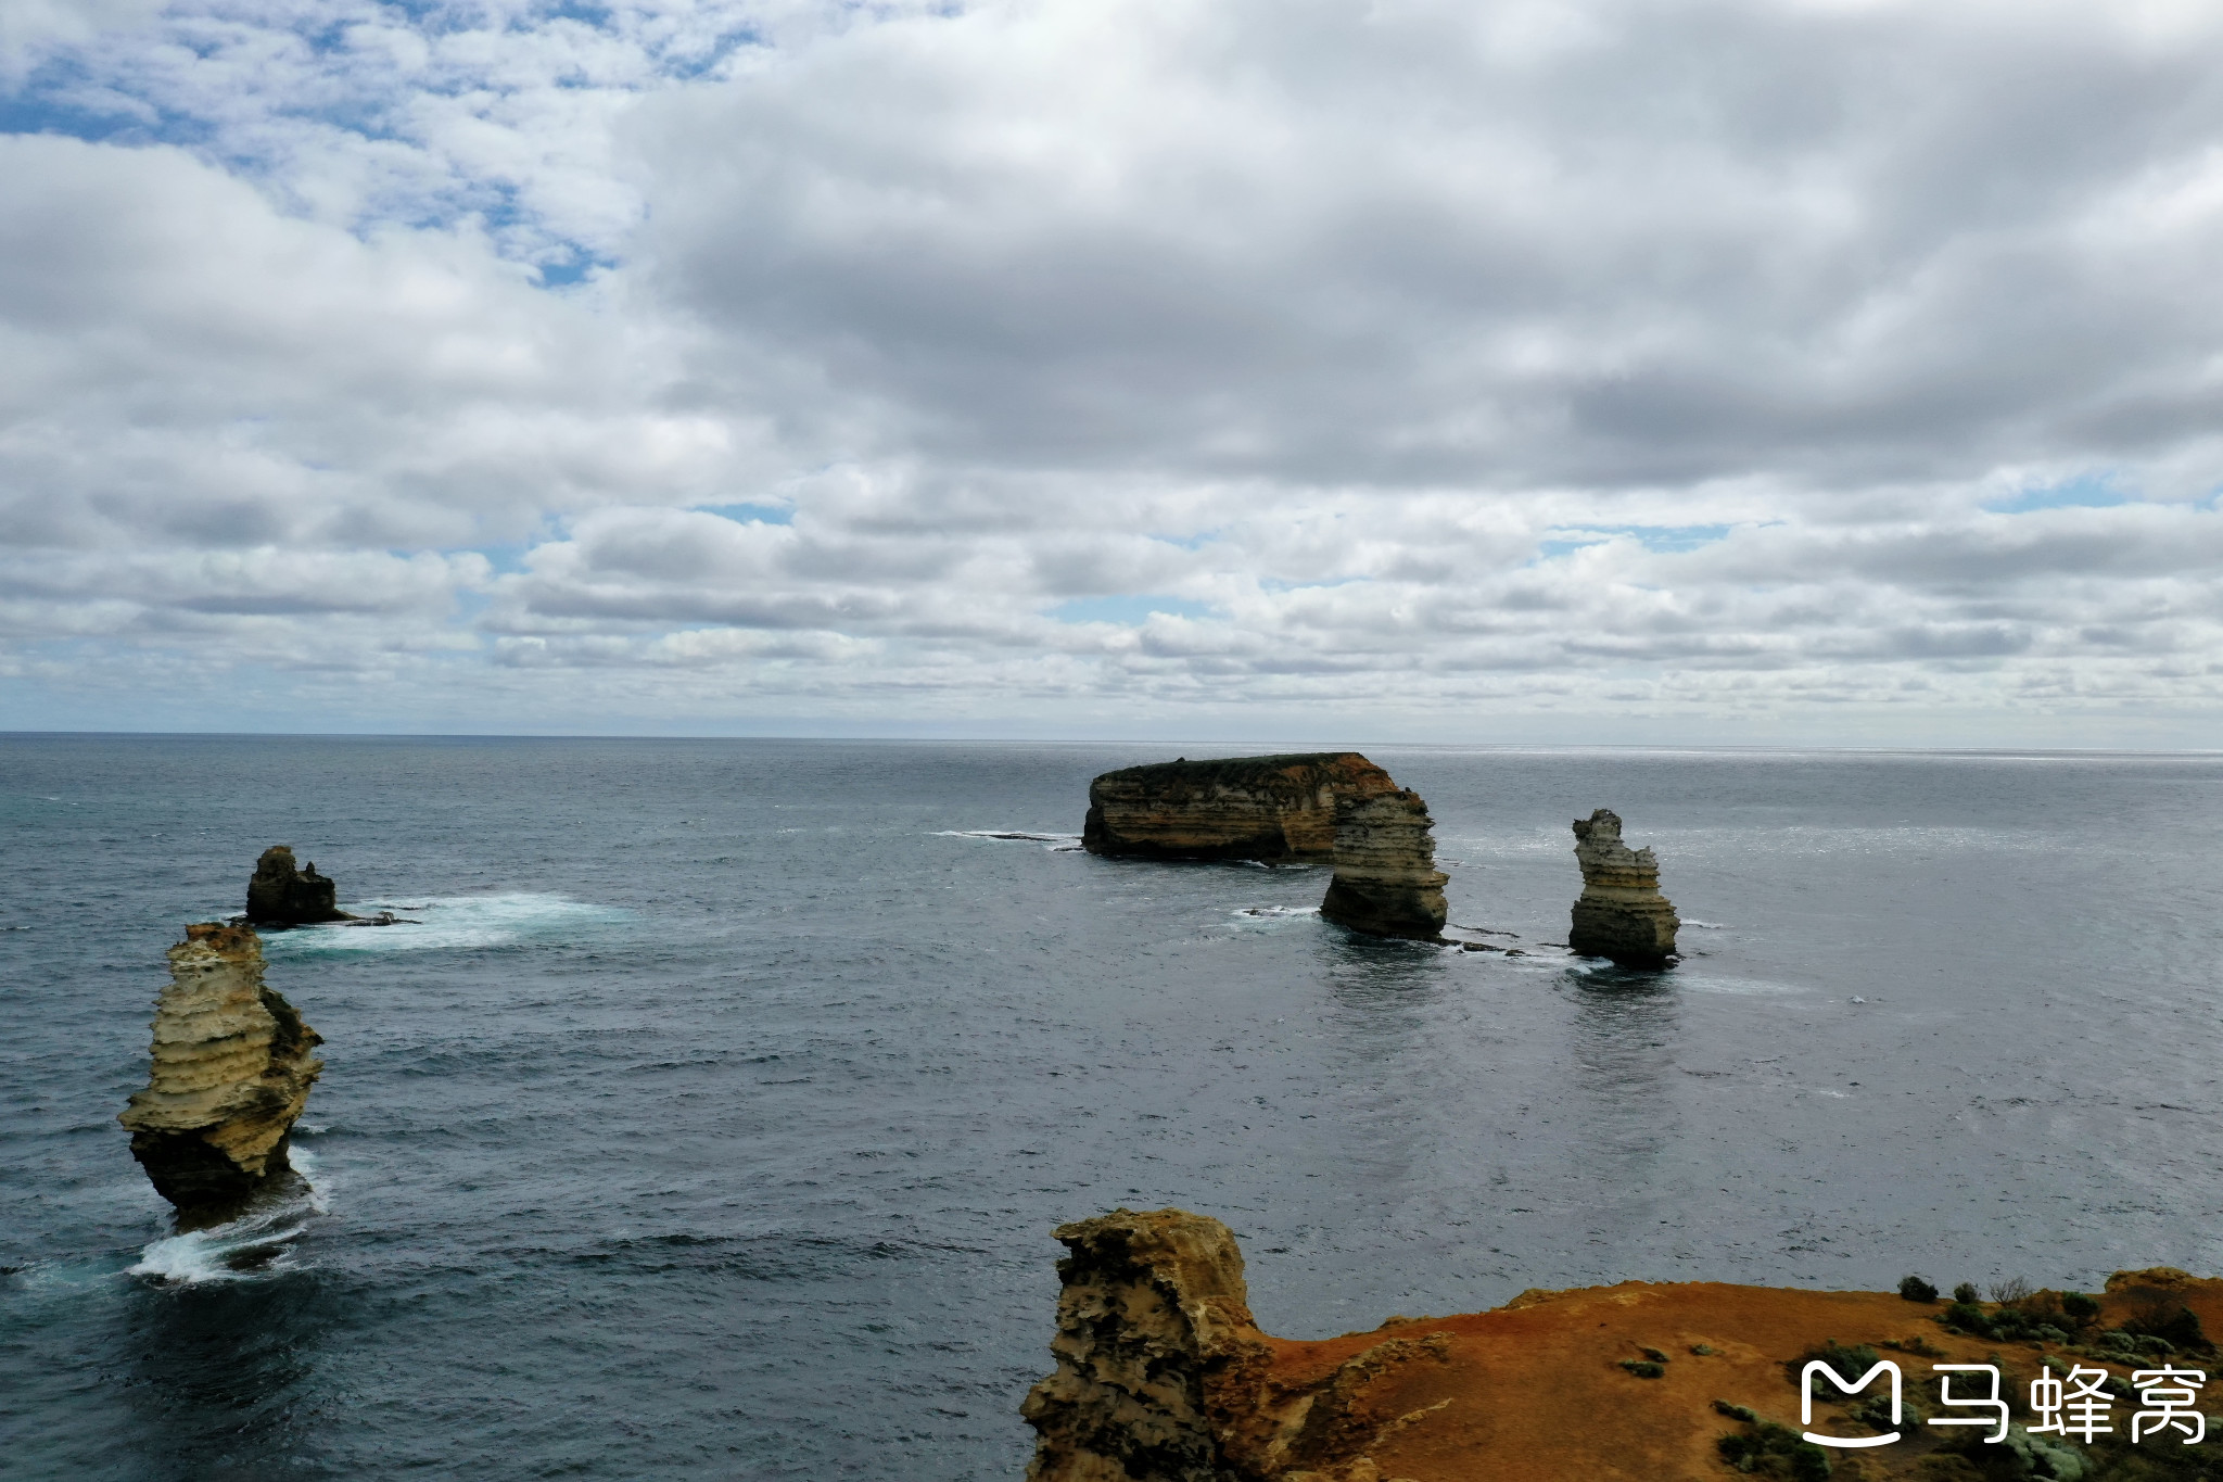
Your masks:
{"label": "cloudy sky with small blue patches above the sea horizon", "polygon": [[2223,735],[2205,0],[0,0],[0,729]]}

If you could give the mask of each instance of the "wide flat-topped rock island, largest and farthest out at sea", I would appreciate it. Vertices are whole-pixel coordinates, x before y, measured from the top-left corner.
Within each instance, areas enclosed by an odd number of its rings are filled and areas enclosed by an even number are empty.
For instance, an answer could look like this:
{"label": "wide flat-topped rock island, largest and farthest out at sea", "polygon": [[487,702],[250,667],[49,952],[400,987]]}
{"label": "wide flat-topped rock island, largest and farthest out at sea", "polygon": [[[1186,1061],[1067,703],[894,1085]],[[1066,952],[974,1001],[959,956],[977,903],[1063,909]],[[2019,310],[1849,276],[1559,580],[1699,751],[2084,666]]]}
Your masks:
{"label": "wide flat-topped rock island, largest and farthest out at sea", "polygon": [[1089,782],[1080,844],[1145,860],[1327,860],[1336,800],[1392,791],[1356,751],[1127,767]]}

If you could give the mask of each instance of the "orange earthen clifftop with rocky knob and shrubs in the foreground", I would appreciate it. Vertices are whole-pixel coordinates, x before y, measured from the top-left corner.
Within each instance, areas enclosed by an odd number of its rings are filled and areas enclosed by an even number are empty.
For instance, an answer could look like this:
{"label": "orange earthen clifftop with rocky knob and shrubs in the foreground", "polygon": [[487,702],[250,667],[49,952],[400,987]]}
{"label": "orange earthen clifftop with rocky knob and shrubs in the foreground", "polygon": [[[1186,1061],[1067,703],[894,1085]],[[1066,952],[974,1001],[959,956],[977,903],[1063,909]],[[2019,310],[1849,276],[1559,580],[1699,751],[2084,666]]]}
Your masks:
{"label": "orange earthen clifftop with rocky knob and shrubs in the foreground", "polygon": [[[1058,1229],[1063,1293],[1056,1373],[1027,1395],[1029,1482],[2132,1482],[2223,1475],[2223,1440],[2130,1442],[2134,1371],[2196,1358],[2223,1322],[2223,1282],[2123,1271],[2085,1320],[2058,1293],[2018,1306],[1910,1302],[1876,1291],[1787,1291],[1718,1282],[1527,1291],[1461,1318],[1392,1318],[1372,1333],[1292,1342],[1258,1331],[1243,1253],[1218,1220],[1180,1209],[1114,1211]],[[2014,1295],[2014,1293],[2010,1293]],[[2052,1302],[2052,1306],[2045,1306]],[[2076,1304],[2072,1304],[2076,1306]],[[2036,1324],[2038,1315],[2070,1329]],[[1963,1326],[1945,1326],[1945,1322]],[[2010,1320],[2012,1318],[2012,1320]],[[2165,1340],[2125,1329],[2167,1329]],[[2036,1338],[2007,1338],[2034,1331]],[[1861,1353],[1870,1349],[1872,1353]],[[1798,1440],[1890,1433],[1881,1389],[1827,1384],[1801,1418],[1798,1373],[1827,1355],[1905,1375],[1898,1442],[1825,1453]],[[1934,1364],[1994,1364],[2014,1422],[1930,1426]],[[2030,1380],[2101,1369],[2114,1431],[2085,1444],[2032,1435]],[[1878,1380],[1881,1386],[1881,1380]],[[1952,1395],[1981,1393],[1956,1375]],[[1727,1444],[1725,1444],[1727,1442]]]}

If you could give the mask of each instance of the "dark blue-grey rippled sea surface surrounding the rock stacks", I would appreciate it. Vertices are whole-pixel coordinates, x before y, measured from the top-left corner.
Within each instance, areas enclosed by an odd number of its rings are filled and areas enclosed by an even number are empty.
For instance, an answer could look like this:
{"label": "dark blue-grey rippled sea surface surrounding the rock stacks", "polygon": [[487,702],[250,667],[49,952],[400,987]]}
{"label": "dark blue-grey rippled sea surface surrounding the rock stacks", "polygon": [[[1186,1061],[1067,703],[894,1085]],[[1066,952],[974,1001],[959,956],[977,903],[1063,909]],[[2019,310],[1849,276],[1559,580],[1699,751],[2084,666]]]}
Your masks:
{"label": "dark blue-grey rippled sea surface surrounding the rock stacks", "polygon": [[[1074,847],[1225,751],[0,738],[0,1473],[1018,1478],[1049,1231],[1118,1204],[1292,1338],[2223,1271],[2223,758],[1367,749],[1503,955]],[[1549,947],[1596,807],[1667,973]],[[313,1195],[169,1235],[116,1113],[273,842],[422,924],[267,938]]]}

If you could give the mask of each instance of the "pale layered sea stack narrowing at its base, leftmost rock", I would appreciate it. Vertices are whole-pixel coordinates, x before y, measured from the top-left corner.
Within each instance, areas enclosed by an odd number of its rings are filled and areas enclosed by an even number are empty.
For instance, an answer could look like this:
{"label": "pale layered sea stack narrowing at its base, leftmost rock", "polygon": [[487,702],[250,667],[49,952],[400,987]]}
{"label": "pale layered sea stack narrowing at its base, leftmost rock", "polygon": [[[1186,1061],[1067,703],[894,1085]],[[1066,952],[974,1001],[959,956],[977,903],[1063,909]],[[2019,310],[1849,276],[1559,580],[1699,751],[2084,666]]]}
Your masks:
{"label": "pale layered sea stack narrowing at its base, leftmost rock", "polygon": [[262,987],[262,942],[247,927],[187,927],[169,971],[153,1073],[118,1120],[156,1193],[180,1220],[207,1222],[289,1171],[287,1133],[325,1069],[322,1038]]}

